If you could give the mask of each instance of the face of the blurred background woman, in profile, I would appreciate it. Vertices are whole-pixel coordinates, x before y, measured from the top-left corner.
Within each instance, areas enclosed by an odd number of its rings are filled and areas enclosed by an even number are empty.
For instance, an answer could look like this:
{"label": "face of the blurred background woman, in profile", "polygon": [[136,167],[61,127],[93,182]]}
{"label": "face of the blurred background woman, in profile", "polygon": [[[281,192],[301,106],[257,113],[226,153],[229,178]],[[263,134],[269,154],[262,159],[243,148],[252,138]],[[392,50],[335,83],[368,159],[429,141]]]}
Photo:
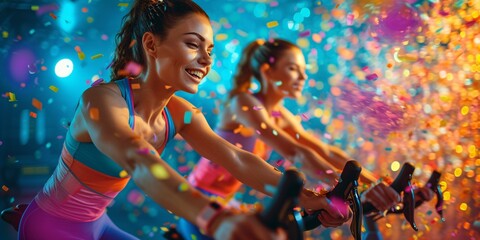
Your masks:
{"label": "face of the blurred background woman, in profile", "polygon": [[285,97],[299,98],[307,79],[305,68],[305,57],[300,49],[286,50],[267,70],[267,82]]}

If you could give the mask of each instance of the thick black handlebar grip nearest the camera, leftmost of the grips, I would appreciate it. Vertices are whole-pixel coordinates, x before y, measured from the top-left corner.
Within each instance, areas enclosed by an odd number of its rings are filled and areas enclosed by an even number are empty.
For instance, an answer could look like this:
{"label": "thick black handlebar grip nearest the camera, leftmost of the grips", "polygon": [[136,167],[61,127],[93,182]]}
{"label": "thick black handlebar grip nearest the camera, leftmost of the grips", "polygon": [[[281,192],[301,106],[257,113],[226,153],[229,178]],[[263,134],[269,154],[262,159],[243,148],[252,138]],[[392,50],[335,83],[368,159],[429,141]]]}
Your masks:
{"label": "thick black handlebar grip nearest the camera, leftmost of the grips", "polygon": [[293,169],[285,171],[271,202],[260,212],[260,221],[272,230],[282,227],[284,219],[288,219],[297,205],[302,189],[303,179],[300,173]]}

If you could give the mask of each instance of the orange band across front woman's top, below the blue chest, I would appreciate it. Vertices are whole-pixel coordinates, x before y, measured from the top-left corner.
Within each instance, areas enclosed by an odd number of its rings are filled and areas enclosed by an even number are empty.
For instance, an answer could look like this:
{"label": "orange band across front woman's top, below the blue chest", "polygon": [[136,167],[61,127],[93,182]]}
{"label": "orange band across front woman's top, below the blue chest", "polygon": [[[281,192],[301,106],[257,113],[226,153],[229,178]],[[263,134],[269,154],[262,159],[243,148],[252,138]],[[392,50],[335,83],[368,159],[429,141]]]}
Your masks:
{"label": "orange band across front woman's top, below the blue chest", "polygon": [[130,177],[112,177],[86,166],[80,161],[75,160],[65,145],[62,149],[62,159],[79,181],[102,194],[116,194],[122,191],[130,180]]}

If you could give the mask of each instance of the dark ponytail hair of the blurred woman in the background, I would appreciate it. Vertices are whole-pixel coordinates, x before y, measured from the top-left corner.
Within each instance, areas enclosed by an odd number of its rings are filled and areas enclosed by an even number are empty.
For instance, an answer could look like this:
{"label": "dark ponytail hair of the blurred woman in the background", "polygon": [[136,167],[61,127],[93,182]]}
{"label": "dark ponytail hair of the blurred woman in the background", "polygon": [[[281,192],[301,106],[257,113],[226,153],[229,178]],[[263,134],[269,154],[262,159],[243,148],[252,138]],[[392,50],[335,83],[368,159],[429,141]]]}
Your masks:
{"label": "dark ponytail hair of the blurred woman in the background", "polygon": [[263,88],[260,67],[267,63],[270,66],[275,65],[276,59],[279,59],[283,52],[299,48],[297,45],[283,39],[275,38],[269,41],[257,39],[248,44],[242,52],[237,72],[233,77],[233,88],[230,90],[228,98],[235,94],[246,92],[252,83],[252,77],[260,81],[260,87]]}

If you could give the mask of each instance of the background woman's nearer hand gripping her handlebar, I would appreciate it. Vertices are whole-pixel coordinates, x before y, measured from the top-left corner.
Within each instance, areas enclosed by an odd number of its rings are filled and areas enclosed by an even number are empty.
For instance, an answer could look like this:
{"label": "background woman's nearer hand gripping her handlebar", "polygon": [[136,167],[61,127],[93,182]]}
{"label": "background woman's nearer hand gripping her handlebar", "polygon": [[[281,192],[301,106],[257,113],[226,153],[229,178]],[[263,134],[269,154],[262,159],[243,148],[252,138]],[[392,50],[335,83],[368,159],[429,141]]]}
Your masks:
{"label": "background woman's nearer hand gripping her handlebar", "polygon": [[398,204],[401,199],[395,189],[379,183],[361,194],[362,204],[370,202],[378,211],[383,212]]}

